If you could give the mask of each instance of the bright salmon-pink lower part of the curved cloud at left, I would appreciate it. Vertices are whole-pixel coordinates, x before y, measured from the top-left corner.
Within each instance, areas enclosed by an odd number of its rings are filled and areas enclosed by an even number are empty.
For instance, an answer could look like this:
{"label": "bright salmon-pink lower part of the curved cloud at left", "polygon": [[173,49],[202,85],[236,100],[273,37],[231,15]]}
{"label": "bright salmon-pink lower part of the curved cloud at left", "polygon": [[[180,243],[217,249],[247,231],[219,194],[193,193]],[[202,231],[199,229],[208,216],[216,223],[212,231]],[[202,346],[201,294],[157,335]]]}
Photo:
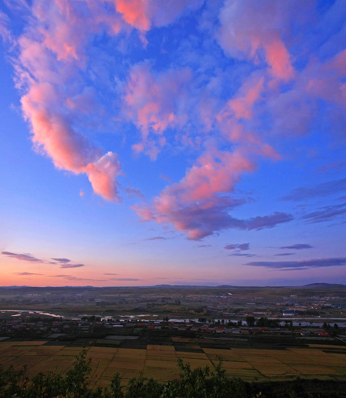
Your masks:
{"label": "bright salmon-pink lower part of the curved cloud at left", "polygon": [[59,93],[48,83],[33,84],[22,97],[22,109],[32,126],[32,140],[43,148],[59,169],[86,173],[94,192],[104,199],[118,199],[116,177],[120,174],[117,155],[101,151],[74,131],[67,117],[51,106],[61,103]]}

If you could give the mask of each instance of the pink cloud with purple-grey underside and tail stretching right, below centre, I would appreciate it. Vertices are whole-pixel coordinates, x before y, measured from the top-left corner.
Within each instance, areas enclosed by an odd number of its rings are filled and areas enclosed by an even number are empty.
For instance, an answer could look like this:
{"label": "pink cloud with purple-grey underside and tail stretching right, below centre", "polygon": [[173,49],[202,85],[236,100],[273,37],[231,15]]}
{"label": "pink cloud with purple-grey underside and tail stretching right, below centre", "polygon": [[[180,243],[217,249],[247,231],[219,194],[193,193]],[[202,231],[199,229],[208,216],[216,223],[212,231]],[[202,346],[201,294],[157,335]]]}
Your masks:
{"label": "pink cloud with purple-grey underside and tail stretching right, below centre", "polygon": [[133,209],[144,221],[172,224],[187,233],[188,239],[198,240],[228,228],[261,229],[292,219],[285,213],[274,213],[249,220],[233,218],[229,211],[245,203],[245,199],[229,196],[240,175],[256,169],[252,156],[240,149],[234,152],[209,149],[186,172],[179,183],[165,188],[151,205]]}

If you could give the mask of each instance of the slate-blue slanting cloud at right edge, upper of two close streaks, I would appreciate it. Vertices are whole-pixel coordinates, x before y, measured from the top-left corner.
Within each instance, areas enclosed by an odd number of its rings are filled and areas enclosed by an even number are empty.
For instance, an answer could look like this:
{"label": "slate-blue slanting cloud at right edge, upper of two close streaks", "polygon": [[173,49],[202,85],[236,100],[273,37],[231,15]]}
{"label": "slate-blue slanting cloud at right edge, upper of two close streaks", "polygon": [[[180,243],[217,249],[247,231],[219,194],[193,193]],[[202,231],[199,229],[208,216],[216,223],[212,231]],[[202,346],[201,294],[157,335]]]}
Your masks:
{"label": "slate-blue slanting cloud at right edge, upper of two close streaks", "polygon": [[335,195],[346,190],[346,178],[321,183],[315,187],[300,187],[293,190],[289,195],[281,200],[305,200],[310,198],[325,197]]}

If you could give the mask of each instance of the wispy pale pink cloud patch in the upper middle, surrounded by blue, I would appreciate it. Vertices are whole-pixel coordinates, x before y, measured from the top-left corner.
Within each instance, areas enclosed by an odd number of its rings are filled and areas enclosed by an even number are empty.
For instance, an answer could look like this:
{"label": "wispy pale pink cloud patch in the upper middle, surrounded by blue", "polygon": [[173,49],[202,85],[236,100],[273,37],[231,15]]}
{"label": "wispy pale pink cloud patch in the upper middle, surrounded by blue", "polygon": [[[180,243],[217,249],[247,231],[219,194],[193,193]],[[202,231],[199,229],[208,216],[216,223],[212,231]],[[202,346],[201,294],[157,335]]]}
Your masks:
{"label": "wispy pale pink cloud patch in the upper middle, surrounded by blue", "polygon": [[182,126],[185,85],[192,75],[188,68],[155,73],[148,62],[133,66],[125,88],[125,111],[140,129],[142,142],[132,146],[136,153],[146,152],[153,160],[165,144],[164,131]]}

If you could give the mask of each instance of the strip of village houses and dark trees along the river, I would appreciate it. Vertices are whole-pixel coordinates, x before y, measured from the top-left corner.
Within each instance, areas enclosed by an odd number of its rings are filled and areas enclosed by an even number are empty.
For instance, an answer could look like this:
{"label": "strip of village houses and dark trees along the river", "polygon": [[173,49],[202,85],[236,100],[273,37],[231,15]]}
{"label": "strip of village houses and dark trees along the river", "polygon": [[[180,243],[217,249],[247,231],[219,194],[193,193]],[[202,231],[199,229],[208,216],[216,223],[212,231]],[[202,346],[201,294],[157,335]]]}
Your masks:
{"label": "strip of village houses and dark trees along the river", "polygon": [[[141,330],[156,332],[160,330],[171,331],[172,333],[199,336],[205,334],[223,334],[223,335],[253,335],[253,334],[285,334],[301,336],[319,336],[331,337],[339,334],[345,334],[346,328],[339,327],[338,323],[330,324],[324,322],[322,326],[301,326],[306,321],[300,320],[300,326],[294,326],[292,320],[269,319],[267,317],[255,318],[253,315],[247,315],[244,320],[231,321],[223,319],[198,320],[184,319],[171,320],[164,317],[162,320],[144,320],[144,319],[113,319],[84,316],[81,319],[69,318],[51,318],[49,316],[34,317],[23,314],[21,319],[0,318],[0,340],[11,337],[44,337],[48,339],[64,338],[71,336],[121,336],[137,335]],[[311,319],[311,318],[309,318]],[[315,319],[319,321],[320,319]],[[294,322],[297,323],[297,322]],[[306,323],[306,322],[305,322]],[[261,326],[259,326],[261,325]],[[126,338],[125,338],[126,339]]]}

